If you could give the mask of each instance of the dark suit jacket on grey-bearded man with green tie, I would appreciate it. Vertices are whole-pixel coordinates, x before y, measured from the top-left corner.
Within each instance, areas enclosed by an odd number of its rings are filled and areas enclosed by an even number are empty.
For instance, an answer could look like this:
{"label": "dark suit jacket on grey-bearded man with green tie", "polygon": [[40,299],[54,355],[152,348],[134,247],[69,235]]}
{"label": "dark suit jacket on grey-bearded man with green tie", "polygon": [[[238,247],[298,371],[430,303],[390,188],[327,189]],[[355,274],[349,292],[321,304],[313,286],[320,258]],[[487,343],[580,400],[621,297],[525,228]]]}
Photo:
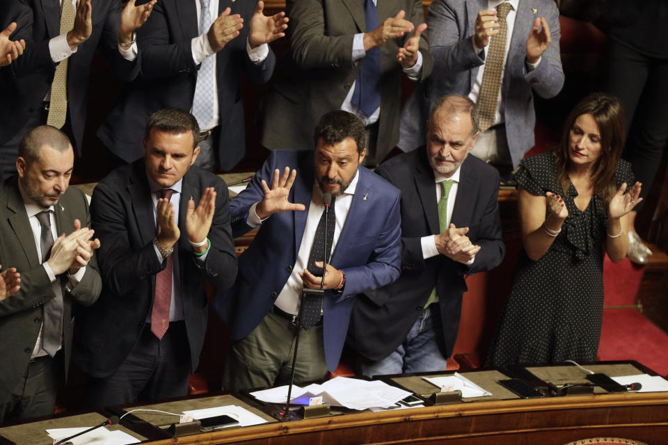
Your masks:
{"label": "dark suit jacket on grey-bearded man with green tie", "polygon": [[451,222],[470,227],[467,236],[481,247],[473,264],[466,266],[440,254],[423,259],[420,238],[440,233],[434,172],[424,147],[390,159],[376,172],[401,190],[401,277],[357,298],[348,342],[369,359],[387,357],[406,339],[436,287],[443,321],[440,346],[448,357],[459,328],[464,277],[495,268],[505,253],[497,201],[499,174],[472,155],[461,165]]}

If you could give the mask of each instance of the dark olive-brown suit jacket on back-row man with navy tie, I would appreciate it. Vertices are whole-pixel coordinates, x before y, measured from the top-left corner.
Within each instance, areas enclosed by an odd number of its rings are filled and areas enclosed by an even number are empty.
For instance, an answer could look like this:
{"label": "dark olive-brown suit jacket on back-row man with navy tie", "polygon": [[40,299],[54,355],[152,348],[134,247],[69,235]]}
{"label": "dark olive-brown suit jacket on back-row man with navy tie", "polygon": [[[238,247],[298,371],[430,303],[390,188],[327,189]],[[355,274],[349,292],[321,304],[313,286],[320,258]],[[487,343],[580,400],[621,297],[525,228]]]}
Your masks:
{"label": "dark olive-brown suit jacket on back-row man with navy tie", "polygon": [[[353,63],[353,37],[367,31],[362,0],[288,0],[289,53],[271,81],[262,115],[262,145],[269,149],[312,149],[313,129],[325,113],[338,110],[362,66]],[[415,26],[424,22],[420,0],[379,0],[382,23],[399,10]],[[406,39],[390,40],[381,47],[381,114],[376,159],[379,161],[399,140],[401,65],[397,51]],[[420,39],[422,72],[427,79],[434,60],[429,54],[427,31]]]}

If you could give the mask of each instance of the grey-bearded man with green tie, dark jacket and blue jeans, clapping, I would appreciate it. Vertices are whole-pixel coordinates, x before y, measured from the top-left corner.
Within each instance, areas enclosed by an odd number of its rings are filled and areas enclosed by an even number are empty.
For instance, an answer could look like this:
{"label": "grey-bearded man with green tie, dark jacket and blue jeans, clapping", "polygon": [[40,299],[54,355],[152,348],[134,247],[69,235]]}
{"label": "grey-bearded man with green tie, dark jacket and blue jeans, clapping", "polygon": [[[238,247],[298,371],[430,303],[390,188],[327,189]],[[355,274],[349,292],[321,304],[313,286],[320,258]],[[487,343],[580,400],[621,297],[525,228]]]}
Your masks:
{"label": "grey-bearded man with green tie, dark jacket and blue jeans, clapping", "polygon": [[427,145],[376,169],[401,191],[401,276],[355,301],[347,342],[359,373],[445,370],[464,278],[503,259],[499,174],[468,156],[477,120],[468,97],[442,97],[427,122]]}

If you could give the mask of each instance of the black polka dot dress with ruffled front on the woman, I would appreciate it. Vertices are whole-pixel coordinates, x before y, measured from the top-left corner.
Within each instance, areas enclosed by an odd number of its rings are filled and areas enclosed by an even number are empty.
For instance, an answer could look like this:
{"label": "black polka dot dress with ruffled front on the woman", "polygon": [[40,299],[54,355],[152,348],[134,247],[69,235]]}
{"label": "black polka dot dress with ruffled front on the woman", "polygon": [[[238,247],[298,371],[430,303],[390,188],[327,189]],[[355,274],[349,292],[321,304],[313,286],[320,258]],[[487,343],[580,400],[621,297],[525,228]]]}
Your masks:
{"label": "black polka dot dress with ruffled front on the woman", "polygon": [[[580,211],[573,184],[562,191],[552,152],[524,159],[515,178],[532,195],[561,195],[568,218],[541,259],[520,253],[486,366],[593,362],[603,320],[605,202],[594,195]],[[633,184],[628,162],[619,161],[615,182]]]}

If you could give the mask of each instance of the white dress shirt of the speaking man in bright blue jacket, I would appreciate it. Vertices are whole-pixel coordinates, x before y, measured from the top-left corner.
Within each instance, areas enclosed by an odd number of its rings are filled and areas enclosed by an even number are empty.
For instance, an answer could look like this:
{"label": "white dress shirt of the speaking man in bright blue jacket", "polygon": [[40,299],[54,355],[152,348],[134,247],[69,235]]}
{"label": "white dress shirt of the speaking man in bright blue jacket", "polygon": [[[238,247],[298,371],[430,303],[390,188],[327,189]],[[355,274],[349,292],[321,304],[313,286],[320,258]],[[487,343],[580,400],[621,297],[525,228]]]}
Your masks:
{"label": "white dress shirt of the speaking man in bright blue jacket", "polygon": [[[348,212],[350,211],[350,206],[353,202],[353,195],[355,194],[359,177],[360,172],[358,170],[346,190],[335,198],[334,211],[336,214],[336,223],[334,227],[332,252],[334,252],[334,249],[336,248],[336,243],[339,241],[343,225],[346,223],[346,218],[348,217]],[[257,227],[257,225],[261,224],[260,218],[258,218],[257,213],[255,213],[255,207],[257,207],[257,203],[250,207],[250,211],[248,211],[248,219],[246,220],[248,225],[252,227]],[[324,209],[324,204],[322,204],[322,192],[320,191],[318,184],[313,184],[311,203],[308,207],[306,226],[304,227],[304,234],[301,238],[299,252],[297,252],[297,259],[292,268],[292,273],[287,279],[285,286],[283,286],[283,289],[281,289],[278,294],[276,302],[274,302],[278,309],[287,312],[288,314],[299,314],[301,290],[304,287],[304,282],[301,280],[299,273],[306,270],[306,267],[308,266],[308,257],[311,254],[313,239],[315,238],[315,232],[320,223],[320,218]]]}

